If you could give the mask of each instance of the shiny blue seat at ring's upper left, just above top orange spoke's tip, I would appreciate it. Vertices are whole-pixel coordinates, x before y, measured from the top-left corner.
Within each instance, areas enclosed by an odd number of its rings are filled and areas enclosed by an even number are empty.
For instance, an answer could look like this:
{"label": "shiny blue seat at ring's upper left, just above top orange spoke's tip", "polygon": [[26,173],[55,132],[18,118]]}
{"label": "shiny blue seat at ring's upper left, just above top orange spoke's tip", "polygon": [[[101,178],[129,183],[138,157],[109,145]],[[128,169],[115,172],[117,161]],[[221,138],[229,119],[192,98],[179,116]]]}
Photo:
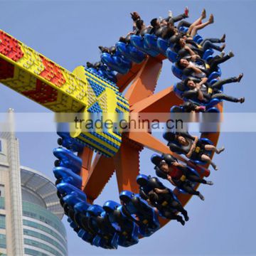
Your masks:
{"label": "shiny blue seat at ring's upper left, just above top orange spoke's tip", "polygon": [[137,48],[131,44],[127,45],[126,43],[117,42],[116,48],[121,55],[123,55],[128,60],[133,61],[134,63],[142,63],[142,61],[146,58],[145,53],[137,50]]}

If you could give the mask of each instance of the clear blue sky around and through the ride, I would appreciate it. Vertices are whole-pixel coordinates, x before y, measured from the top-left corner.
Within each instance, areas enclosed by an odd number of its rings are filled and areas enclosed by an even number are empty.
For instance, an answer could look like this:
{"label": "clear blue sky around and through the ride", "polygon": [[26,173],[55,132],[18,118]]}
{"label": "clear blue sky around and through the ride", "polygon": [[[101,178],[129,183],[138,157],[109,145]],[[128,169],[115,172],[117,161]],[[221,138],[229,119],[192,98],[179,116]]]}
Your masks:
{"label": "clear blue sky around and through the ride", "polygon": [[[226,51],[235,58],[222,65],[223,78],[244,73],[240,84],[225,87],[229,95],[245,96],[243,105],[225,102],[224,111],[242,113],[256,111],[255,95],[255,1],[0,1],[0,28],[31,48],[38,50],[59,65],[72,71],[87,61],[100,59],[97,46],[112,46],[132,28],[129,13],[138,11],[149,23],[151,18],[190,9],[190,21],[203,8],[213,13],[215,23],[201,31],[201,36],[227,35]],[[156,92],[174,84],[171,63],[166,61]],[[0,112],[9,107],[15,112],[47,112],[4,85],[0,86]],[[253,120],[250,120],[253,121]],[[250,126],[250,124],[248,124]],[[21,164],[53,177],[53,148],[57,135],[53,132],[17,133],[20,140]],[[156,134],[161,137],[161,134]],[[80,240],[63,223],[68,233],[68,250],[75,255],[256,255],[256,172],[252,161],[255,152],[255,132],[223,132],[219,146],[223,154],[215,156],[219,171],[212,171],[214,186],[201,186],[206,201],[192,198],[186,206],[190,220],[183,227],[171,221],[149,238],[133,247],[103,250]],[[150,162],[152,151],[144,150],[141,171],[154,175]],[[104,170],[102,170],[104,171]],[[100,177],[99,177],[100,178]],[[99,204],[118,200],[115,176],[107,184]]]}

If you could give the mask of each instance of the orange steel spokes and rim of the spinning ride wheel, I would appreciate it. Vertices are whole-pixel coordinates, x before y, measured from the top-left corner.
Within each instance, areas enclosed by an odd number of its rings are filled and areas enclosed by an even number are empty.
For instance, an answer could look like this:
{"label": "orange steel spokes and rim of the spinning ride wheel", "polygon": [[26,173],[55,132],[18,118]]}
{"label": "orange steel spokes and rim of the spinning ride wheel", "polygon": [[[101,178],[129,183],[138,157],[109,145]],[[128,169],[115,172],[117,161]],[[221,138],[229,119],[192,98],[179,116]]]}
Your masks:
{"label": "orange steel spokes and rim of the spinning ride wheel", "polygon": [[[173,86],[154,93],[164,59],[163,56],[160,58],[148,57],[144,63],[133,65],[132,70],[126,75],[117,77],[117,86],[120,92],[123,92],[132,82],[125,94],[129,100],[131,114],[165,113],[169,112],[173,105],[181,104],[182,101],[176,97]],[[218,109],[222,112],[221,104],[218,105]],[[219,132],[203,134],[202,137],[207,137],[216,145]],[[182,156],[171,152],[166,144],[156,139],[150,132],[123,132],[122,145],[112,158],[96,154],[94,161],[92,161],[93,151],[88,148],[80,153],[82,158],[82,190],[87,195],[87,201],[92,203],[100,195],[114,171],[117,176],[119,192],[129,190],[138,193],[139,186],[136,178],[139,174],[139,154],[144,147],[159,153],[172,154],[194,169],[198,169],[198,166],[194,166],[191,162],[188,163]],[[204,167],[208,168],[208,165]],[[206,174],[202,174],[202,176],[206,176]],[[191,195],[178,193],[177,189],[174,190],[174,193],[183,206],[191,198]],[[161,217],[159,220],[161,226],[169,222],[169,220]]]}

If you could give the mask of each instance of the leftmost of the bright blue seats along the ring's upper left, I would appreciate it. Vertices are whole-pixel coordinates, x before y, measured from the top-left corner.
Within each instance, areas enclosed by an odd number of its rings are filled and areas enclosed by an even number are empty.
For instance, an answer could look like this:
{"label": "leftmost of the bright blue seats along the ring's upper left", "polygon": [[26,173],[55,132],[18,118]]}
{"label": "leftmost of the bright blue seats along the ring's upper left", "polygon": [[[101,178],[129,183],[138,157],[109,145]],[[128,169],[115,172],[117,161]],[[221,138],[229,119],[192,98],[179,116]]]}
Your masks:
{"label": "leftmost of the bright blue seats along the ring's upper left", "polygon": [[105,63],[111,70],[115,70],[120,74],[126,74],[132,68],[132,63],[129,60],[110,53],[102,53],[100,56],[102,63]]}

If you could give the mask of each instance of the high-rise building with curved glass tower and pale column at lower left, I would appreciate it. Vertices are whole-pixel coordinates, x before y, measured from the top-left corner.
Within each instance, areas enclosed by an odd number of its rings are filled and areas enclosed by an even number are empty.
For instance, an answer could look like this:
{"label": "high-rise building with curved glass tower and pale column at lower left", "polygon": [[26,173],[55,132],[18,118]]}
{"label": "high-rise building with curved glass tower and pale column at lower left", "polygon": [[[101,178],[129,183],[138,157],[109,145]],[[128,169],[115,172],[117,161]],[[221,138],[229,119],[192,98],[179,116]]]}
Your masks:
{"label": "high-rise building with curved glass tower and pale column at lower left", "polygon": [[54,184],[20,165],[9,110],[9,131],[0,136],[0,255],[65,256],[63,208]]}

